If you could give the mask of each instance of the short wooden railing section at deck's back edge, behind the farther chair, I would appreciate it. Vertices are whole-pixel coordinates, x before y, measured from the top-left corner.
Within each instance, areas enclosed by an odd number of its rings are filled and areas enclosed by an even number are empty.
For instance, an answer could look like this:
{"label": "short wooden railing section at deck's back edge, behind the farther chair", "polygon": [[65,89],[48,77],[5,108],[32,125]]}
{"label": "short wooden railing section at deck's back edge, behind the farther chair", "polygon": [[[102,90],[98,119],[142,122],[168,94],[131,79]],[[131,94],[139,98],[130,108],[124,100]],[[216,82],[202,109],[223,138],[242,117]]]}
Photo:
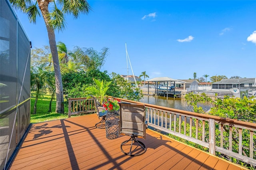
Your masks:
{"label": "short wooden railing section at deck's back edge, behind the farther chair", "polygon": [[95,112],[95,105],[92,98],[70,98],[68,99],[68,117],[81,113]]}

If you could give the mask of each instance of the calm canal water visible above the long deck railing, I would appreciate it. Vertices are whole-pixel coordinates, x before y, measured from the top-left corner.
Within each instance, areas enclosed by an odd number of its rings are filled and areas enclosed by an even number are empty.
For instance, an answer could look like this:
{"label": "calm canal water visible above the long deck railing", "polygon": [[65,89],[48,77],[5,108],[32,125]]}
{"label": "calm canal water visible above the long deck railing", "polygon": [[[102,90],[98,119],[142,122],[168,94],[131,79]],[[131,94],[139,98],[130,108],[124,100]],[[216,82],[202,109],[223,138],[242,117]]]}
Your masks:
{"label": "calm canal water visible above the long deck railing", "polygon": [[174,109],[180,109],[184,111],[191,111],[186,104],[185,99],[181,98],[173,98],[173,97],[154,97],[154,96],[148,96],[144,95],[142,99],[140,99],[140,102],[142,103],[148,103],[152,105],[158,105],[158,106],[164,106],[164,107],[170,107]]}

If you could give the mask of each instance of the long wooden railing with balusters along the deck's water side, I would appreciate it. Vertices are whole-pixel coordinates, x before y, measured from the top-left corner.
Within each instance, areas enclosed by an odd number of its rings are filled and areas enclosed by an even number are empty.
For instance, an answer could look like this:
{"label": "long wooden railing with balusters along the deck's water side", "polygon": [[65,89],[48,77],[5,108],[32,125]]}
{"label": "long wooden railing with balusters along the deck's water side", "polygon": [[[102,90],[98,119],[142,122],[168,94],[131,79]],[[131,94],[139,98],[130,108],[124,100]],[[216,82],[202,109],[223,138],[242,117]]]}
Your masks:
{"label": "long wooden railing with balusters along the deck's water side", "polygon": [[255,123],[143,104],[149,126],[204,146],[209,149],[210,154],[220,152],[256,166]]}

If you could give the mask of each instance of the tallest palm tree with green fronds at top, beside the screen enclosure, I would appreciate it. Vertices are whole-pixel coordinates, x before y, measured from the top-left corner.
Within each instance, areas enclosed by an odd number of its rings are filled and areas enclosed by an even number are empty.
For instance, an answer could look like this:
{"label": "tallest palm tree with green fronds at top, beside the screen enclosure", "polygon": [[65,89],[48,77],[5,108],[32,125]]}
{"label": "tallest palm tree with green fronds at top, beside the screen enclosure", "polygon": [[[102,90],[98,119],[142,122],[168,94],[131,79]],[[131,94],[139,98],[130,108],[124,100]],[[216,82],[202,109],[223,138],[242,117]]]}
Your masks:
{"label": "tallest palm tree with green fronds at top, beside the screen enclosure", "polygon": [[[10,0],[10,3],[14,8],[28,14],[29,21],[33,23],[36,23],[36,17],[40,16],[39,10],[42,13],[48,32],[52,60],[54,63],[56,112],[64,113],[63,86],[54,31],[62,31],[65,29],[65,14],[72,14],[76,19],[80,13],[88,14],[90,6],[86,0]],[[60,8],[58,8],[56,4],[58,4]],[[50,12],[49,6],[52,7],[50,8]]]}

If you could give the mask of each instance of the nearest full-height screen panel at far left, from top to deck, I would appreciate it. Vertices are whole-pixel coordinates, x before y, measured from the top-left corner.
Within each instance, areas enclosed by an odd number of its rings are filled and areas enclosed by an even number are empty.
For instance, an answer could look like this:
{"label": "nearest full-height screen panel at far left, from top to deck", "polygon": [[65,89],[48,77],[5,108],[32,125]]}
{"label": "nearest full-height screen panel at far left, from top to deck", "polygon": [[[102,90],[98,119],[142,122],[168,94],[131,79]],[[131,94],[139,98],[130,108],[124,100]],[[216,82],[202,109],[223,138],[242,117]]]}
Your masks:
{"label": "nearest full-height screen panel at far left, from top to deck", "polygon": [[17,104],[17,20],[5,0],[0,0],[0,83],[0,169],[4,169],[16,148]]}

